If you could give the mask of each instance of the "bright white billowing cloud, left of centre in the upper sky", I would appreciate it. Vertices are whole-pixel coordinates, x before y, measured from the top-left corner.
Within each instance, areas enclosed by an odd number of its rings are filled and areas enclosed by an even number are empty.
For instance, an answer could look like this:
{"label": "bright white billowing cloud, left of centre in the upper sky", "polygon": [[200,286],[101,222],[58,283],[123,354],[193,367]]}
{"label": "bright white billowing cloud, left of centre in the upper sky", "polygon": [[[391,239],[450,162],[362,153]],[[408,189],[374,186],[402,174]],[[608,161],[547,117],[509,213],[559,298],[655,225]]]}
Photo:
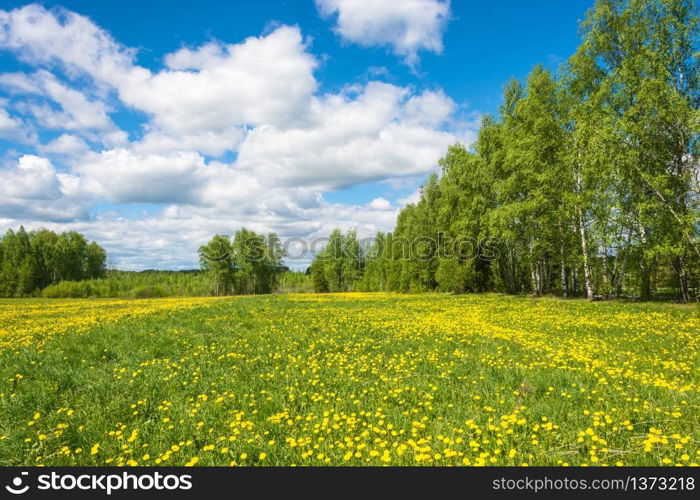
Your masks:
{"label": "bright white billowing cloud, left of centre in the upper sky", "polygon": [[168,70],[120,85],[124,102],[170,131],[240,125],[289,126],[303,119],[316,89],[316,60],[301,32],[282,26],[239,44],[206,44],[166,56]]}

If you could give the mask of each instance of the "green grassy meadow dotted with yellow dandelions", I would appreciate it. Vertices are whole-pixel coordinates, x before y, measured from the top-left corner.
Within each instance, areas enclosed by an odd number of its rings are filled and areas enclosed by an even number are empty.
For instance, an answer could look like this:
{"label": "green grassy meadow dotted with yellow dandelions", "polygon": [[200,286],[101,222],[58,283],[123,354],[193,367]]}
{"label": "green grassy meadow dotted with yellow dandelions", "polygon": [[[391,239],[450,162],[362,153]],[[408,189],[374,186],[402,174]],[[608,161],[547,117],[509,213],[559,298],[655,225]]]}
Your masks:
{"label": "green grassy meadow dotted with yellow dandelions", "polygon": [[0,303],[1,465],[692,465],[693,306]]}

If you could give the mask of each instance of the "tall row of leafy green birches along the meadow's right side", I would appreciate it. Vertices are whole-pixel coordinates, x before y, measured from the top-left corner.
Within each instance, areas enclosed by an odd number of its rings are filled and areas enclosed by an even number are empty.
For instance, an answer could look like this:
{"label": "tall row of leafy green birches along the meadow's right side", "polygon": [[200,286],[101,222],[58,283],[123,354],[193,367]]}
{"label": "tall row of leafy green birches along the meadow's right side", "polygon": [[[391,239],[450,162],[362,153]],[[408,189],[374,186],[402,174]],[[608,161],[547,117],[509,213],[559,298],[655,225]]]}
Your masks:
{"label": "tall row of leafy green birches along the meadow's right side", "polygon": [[449,149],[362,272],[321,255],[316,290],[697,299],[697,5],[599,0],[581,28],[557,74],[506,85],[498,116],[470,150]]}

